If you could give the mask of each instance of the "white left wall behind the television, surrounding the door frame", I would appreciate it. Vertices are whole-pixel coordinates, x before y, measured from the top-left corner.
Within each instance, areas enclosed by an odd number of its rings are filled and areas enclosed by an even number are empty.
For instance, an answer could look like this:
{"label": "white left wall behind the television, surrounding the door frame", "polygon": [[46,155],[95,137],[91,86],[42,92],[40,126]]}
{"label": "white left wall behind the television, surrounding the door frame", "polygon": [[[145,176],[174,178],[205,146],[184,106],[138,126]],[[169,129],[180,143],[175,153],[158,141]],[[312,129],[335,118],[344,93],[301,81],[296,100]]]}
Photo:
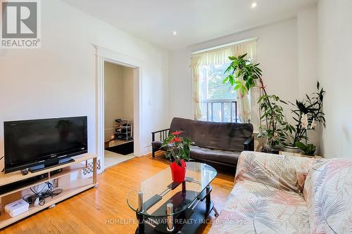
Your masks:
{"label": "white left wall behind the television, surrounding the door frame", "polygon": [[[89,151],[96,152],[96,60],[92,44],[144,61],[142,147],[168,126],[168,52],[58,0],[42,1],[42,48],[0,50],[2,122],[87,115]],[[2,160],[3,161],[3,160]],[[1,162],[2,164],[3,162]]]}

